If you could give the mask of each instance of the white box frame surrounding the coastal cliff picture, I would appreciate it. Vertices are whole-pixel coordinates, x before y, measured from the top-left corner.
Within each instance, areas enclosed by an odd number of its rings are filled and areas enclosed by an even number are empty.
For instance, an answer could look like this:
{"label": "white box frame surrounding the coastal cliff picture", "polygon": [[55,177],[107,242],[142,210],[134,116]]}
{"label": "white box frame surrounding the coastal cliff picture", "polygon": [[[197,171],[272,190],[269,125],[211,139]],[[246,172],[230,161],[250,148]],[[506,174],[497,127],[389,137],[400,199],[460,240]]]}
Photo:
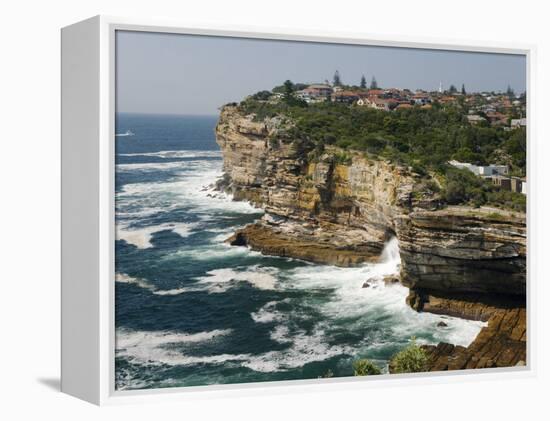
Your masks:
{"label": "white box frame surrounding the coastal cliff picture", "polygon": [[[533,317],[535,283],[531,279],[534,244],[530,184],[528,201],[527,310],[528,363],[525,367],[464,370],[460,372],[294,380],[261,384],[197,386],[186,388],[116,391],[114,389],[114,106],[115,31],[131,30],[224,37],[283,39],[357,45],[465,50],[524,54],[527,58],[527,98],[531,110],[534,93],[534,46],[484,42],[463,44],[452,40],[404,39],[346,33],[313,33],[277,28],[181,24],[153,19],[96,16],[65,27],[62,41],[62,377],[63,392],[97,405],[140,400],[169,400],[243,394],[294,393],[319,388],[365,388],[391,385],[471,381],[485,378],[532,376],[536,372]],[[530,113],[530,116],[533,113]],[[528,177],[535,173],[532,127],[528,140]],[[197,395],[196,392],[202,392]]]}

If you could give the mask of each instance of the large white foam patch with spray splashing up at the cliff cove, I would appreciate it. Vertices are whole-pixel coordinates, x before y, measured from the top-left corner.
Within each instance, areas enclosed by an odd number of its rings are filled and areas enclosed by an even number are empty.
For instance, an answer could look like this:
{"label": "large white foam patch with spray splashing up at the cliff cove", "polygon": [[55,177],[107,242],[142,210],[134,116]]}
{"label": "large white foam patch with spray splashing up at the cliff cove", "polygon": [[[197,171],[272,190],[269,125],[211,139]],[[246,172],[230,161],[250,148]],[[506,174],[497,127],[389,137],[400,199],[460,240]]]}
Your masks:
{"label": "large white foam patch with spray splashing up at the cliff cove", "polygon": [[[468,346],[477,336],[483,322],[447,317],[447,329],[437,329],[441,316],[418,313],[406,304],[409,290],[401,284],[385,285],[383,276],[398,273],[399,251],[396,240],[390,240],[382,253],[381,263],[357,268],[335,266],[305,266],[291,270],[281,281],[280,288],[300,290],[331,290],[330,301],[316,306],[328,320],[359,318],[359,326],[369,320],[387,315],[391,318],[394,338],[410,338],[418,332],[432,334],[437,342]],[[363,288],[365,281],[370,286]],[[375,322],[373,322],[375,323]],[[384,323],[388,323],[385,321]],[[386,338],[388,341],[392,338]]]}

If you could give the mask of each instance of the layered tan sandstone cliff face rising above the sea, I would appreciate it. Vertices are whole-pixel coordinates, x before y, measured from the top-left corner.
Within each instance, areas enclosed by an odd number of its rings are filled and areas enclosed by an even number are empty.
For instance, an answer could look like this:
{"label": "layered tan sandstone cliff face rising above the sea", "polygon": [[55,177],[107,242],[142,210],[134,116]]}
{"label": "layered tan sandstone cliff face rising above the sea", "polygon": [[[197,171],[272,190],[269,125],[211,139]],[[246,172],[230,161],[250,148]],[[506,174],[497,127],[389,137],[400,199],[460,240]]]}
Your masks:
{"label": "layered tan sandstone cliff face rising above the sea", "polygon": [[349,266],[375,261],[396,236],[413,307],[430,292],[525,296],[524,214],[437,209],[426,181],[405,168],[336,149],[308,158],[287,134],[290,124],[222,110],[220,187],[266,211],[232,244]]}

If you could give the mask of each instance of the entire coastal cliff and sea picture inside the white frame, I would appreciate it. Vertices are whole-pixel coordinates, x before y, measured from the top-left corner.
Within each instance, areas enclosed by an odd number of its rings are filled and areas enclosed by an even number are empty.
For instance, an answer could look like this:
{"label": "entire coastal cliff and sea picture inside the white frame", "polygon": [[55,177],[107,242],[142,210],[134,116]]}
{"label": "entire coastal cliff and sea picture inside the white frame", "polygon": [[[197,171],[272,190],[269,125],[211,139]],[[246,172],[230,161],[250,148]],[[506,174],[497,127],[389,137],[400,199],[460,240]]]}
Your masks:
{"label": "entire coastal cliff and sea picture inside the white frame", "polygon": [[115,387],[525,366],[526,57],[116,33]]}

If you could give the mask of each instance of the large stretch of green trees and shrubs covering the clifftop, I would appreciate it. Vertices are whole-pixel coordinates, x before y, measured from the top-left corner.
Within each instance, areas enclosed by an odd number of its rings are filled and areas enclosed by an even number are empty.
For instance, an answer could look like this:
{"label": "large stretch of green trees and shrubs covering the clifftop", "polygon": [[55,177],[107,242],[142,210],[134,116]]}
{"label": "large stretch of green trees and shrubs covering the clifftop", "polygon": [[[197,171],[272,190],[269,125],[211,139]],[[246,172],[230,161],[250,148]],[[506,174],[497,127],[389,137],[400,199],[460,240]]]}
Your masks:
{"label": "large stretch of green trees and shrubs covering the clifftop", "polygon": [[[272,92],[280,100],[269,100],[269,91],[247,97],[239,105],[255,121],[281,117],[289,124],[287,135],[307,157],[315,160],[327,146],[346,152],[389,160],[408,167],[426,179],[437,179],[442,204],[495,206],[525,211],[525,195],[502,191],[490,180],[449,165],[449,161],[473,165],[507,165],[510,175],[526,176],[526,130],[505,130],[488,124],[472,125],[464,103],[437,101],[429,108],[420,105],[391,112],[334,101],[307,103],[295,95],[302,84],[290,81]],[[272,94],[271,94],[272,95]]]}

